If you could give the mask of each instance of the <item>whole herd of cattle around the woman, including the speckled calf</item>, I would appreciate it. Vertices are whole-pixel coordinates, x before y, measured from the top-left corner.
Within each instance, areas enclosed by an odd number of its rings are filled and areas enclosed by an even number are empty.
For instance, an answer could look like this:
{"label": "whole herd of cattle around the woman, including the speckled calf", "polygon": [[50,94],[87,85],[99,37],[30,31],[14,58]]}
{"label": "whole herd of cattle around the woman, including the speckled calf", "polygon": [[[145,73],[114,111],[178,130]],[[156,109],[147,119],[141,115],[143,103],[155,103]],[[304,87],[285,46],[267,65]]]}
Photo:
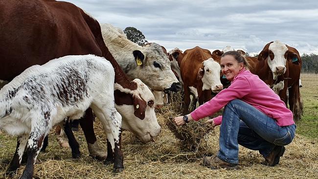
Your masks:
{"label": "whole herd of cattle around the woman, including the speckled calf", "polygon": [[[114,172],[119,172],[124,168],[121,129],[143,142],[154,140],[160,133],[154,108],[162,106],[155,102],[162,101],[163,92],[182,90],[186,114],[190,95],[201,105],[228,85],[219,64],[225,51],[234,50],[229,46],[212,53],[198,46],[184,53],[178,48],[167,52],[156,43],[139,46],[121,29],[99,24],[63,1],[0,1],[0,12],[0,80],[10,82],[0,90],[0,130],[18,135],[7,173],[20,167],[26,150],[22,179],[32,178],[44,138],[56,124],[68,136],[72,157],[80,156],[67,117],[84,115],[80,125],[90,155],[114,163]],[[299,119],[303,106],[298,51],[275,41],[258,57],[245,58],[250,71]],[[96,141],[92,111],[103,124],[107,153]]]}

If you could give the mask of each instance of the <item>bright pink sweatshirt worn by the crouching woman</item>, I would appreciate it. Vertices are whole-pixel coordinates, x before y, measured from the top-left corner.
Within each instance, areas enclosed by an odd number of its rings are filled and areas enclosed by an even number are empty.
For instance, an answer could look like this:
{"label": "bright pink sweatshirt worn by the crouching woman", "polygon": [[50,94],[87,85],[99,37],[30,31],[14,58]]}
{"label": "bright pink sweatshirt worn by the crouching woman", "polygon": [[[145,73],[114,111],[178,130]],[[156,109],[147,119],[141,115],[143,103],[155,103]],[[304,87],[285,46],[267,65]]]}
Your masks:
{"label": "bright pink sweatshirt worn by the crouching woman", "polygon": [[[212,115],[227,105],[233,99],[240,99],[267,116],[276,120],[279,126],[289,126],[295,124],[293,113],[286,108],[285,103],[280,97],[274,93],[257,75],[252,74],[249,70],[243,68],[237,74],[231,85],[221,90],[210,101],[199,106],[195,111],[191,112],[194,120]],[[214,123],[220,125],[222,116],[214,118]]]}

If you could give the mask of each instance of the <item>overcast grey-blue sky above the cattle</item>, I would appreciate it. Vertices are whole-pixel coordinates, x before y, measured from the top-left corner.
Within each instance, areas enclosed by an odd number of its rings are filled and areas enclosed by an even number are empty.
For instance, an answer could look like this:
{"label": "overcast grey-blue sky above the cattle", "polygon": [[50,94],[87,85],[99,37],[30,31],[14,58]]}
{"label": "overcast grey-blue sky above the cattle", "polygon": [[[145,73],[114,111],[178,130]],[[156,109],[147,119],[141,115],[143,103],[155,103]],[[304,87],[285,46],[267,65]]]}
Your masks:
{"label": "overcast grey-blue sky above the cattle", "polygon": [[251,54],[275,40],[318,54],[316,0],[65,0],[98,22],[133,26],[168,51],[230,45]]}

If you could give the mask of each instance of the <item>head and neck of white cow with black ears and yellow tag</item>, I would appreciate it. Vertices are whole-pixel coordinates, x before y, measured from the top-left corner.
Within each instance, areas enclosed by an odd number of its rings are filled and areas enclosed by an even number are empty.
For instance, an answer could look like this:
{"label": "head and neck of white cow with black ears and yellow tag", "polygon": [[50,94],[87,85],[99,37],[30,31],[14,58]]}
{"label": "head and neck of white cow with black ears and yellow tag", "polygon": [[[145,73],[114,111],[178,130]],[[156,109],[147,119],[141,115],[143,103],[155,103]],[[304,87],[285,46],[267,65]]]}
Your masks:
{"label": "head and neck of white cow with black ears and yellow tag", "polygon": [[153,90],[168,92],[181,89],[160,45],[150,43],[139,46],[109,23],[101,24],[101,29],[106,46],[130,78],[140,79]]}

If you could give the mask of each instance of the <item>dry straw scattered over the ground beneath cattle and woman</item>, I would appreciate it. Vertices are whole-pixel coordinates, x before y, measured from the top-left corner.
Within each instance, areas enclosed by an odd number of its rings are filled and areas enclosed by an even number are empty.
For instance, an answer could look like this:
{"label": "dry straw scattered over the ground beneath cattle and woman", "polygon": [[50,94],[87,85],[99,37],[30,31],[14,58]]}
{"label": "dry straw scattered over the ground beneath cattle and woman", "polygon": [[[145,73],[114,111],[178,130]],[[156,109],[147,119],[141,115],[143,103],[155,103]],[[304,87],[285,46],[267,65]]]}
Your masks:
{"label": "dry straw scattered over the ground beneath cattle and woman", "polygon": [[[199,142],[185,145],[166,125],[169,117],[181,115],[180,101],[165,106],[157,113],[161,133],[156,142],[142,143],[130,132],[122,134],[124,171],[114,174],[113,165],[106,166],[102,161],[89,157],[86,140],[81,129],[75,132],[82,153],[79,159],[72,159],[70,150],[61,148],[54,136],[49,134],[46,152],[40,153],[40,163],[35,165],[34,179],[317,179],[318,140],[306,139],[296,135],[294,141],[286,146],[286,152],[279,165],[267,167],[261,165],[263,157],[257,152],[239,148],[239,169],[233,171],[211,170],[201,166],[202,155],[217,153],[219,149],[219,127],[203,137]],[[175,110],[178,109],[178,110]],[[200,124],[205,126],[205,124]],[[182,127],[183,128],[183,127]],[[185,127],[186,128],[186,127]],[[100,146],[106,151],[106,137],[101,123],[94,123],[95,133]],[[183,129],[182,129],[183,130]],[[199,129],[197,129],[199,130]],[[201,129],[200,129],[201,130]],[[205,130],[205,129],[204,129]],[[188,133],[190,129],[187,130]],[[185,137],[186,138],[186,137]],[[191,138],[191,137],[188,137]],[[12,159],[16,147],[16,137],[0,134],[0,178],[6,178],[4,172]],[[193,141],[193,140],[192,140]],[[206,144],[203,144],[206,143]],[[199,146],[197,151],[190,151],[191,144]],[[187,147],[189,146],[189,147]],[[25,165],[17,171],[13,179],[19,179]]]}

